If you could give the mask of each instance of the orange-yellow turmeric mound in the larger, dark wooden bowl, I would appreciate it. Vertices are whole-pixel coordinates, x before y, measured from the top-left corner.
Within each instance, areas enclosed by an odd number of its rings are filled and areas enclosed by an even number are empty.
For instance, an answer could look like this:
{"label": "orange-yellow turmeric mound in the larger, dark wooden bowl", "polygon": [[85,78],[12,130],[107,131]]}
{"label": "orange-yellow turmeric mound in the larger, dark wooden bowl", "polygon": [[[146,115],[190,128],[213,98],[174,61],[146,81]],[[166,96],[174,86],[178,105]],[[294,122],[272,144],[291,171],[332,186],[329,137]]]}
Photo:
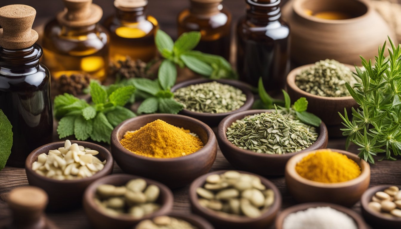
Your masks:
{"label": "orange-yellow turmeric mound in the larger, dark wooden bowl", "polygon": [[139,130],[127,132],[120,141],[131,152],[153,158],[176,158],[198,151],[203,142],[189,130],[160,119]]}

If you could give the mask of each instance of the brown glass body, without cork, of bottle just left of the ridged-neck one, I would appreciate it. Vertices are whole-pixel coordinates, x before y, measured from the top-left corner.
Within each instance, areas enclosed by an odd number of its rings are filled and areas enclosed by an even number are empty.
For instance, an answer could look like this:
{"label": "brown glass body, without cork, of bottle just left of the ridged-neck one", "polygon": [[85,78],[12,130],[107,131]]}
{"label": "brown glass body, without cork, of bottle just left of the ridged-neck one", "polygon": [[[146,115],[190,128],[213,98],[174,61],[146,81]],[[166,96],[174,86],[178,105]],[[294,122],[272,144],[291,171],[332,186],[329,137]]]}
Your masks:
{"label": "brown glass body, without cork, of bottle just left of the ridged-neck one", "polygon": [[200,31],[201,41],[195,50],[230,59],[231,14],[224,8],[213,16],[191,14],[189,9],[178,15],[178,36],[184,32]]}

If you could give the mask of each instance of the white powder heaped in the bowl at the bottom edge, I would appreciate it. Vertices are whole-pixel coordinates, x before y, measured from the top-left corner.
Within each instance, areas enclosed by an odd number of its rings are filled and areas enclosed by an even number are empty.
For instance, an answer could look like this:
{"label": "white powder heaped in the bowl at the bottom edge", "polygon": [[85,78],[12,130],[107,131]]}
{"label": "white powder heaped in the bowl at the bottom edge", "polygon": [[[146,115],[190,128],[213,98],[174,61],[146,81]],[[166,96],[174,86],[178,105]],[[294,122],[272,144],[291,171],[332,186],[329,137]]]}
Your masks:
{"label": "white powder heaped in the bowl at the bottom edge", "polygon": [[308,208],[289,214],[283,229],[358,229],[347,214],[331,207]]}

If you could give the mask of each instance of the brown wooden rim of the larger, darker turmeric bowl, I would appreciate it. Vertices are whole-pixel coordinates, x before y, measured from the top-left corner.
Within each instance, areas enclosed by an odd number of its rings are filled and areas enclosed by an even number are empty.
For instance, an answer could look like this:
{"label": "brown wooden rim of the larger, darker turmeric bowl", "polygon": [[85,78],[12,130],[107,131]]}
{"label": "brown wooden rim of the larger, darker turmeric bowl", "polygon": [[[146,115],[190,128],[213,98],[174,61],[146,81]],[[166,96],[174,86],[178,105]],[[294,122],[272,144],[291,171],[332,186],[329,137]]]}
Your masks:
{"label": "brown wooden rim of the larger, darker turmeric bowl", "polygon": [[[176,158],[153,158],[153,157],[147,157],[147,156],[142,156],[139,154],[136,154],[128,149],[126,149],[124,146],[122,146],[122,144],[120,143],[120,140],[118,139],[118,132],[121,130],[121,128],[125,125],[128,125],[128,123],[130,122],[134,122],[134,120],[139,120],[139,119],[143,119],[146,117],[156,117],[155,120],[163,120],[163,118],[179,118],[179,119],[184,119],[186,121],[192,122],[192,124],[194,125],[198,125],[200,126],[203,130],[205,130],[206,134],[207,134],[207,142],[206,144],[204,144],[204,146],[202,148],[200,148],[199,150],[193,152],[192,154],[189,155],[185,155],[185,156],[180,156],[180,157],[176,157]],[[146,124],[144,124],[143,126],[145,126]],[[130,156],[133,156],[134,158],[140,159],[140,160],[148,160],[148,161],[153,161],[153,162],[179,162],[179,161],[184,161],[184,160],[190,160],[191,158],[198,156],[199,154],[205,154],[207,153],[209,147],[213,147],[213,144],[215,144],[216,142],[216,136],[213,132],[213,130],[207,126],[204,122],[197,120],[195,118],[192,117],[188,117],[188,116],[184,116],[184,115],[179,115],[179,114],[167,114],[167,113],[155,113],[155,114],[146,114],[146,115],[141,115],[141,116],[137,116],[134,118],[130,118],[128,120],[125,120],[124,122],[120,123],[118,126],[116,126],[113,130],[113,132],[111,132],[111,145],[114,145],[117,148],[117,151],[122,152],[123,154],[127,154]],[[116,144],[113,144],[114,142],[116,142]]]}

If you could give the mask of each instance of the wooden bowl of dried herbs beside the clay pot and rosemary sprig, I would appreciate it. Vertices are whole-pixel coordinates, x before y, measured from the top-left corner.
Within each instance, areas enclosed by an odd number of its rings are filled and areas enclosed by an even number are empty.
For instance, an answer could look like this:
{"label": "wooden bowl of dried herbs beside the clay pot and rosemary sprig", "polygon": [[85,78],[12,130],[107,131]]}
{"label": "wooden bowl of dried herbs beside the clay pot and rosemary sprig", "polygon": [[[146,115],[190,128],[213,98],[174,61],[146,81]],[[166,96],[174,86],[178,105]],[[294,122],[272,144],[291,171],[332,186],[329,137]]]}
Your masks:
{"label": "wooden bowl of dried herbs beside the clay pot and rosemary sprig", "polygon": [[297,67],[287,76],[291,100],[305,97],[308,111],[322,119],[330,137],[342,137],[340,128],[344,126],[338,112],[344,115],[345,108],[351,118],[352,107],[358,107],[346,87],[346,83],[351,87],[358,83],[352,69],[355,69],[352,65],[326,59]]}

